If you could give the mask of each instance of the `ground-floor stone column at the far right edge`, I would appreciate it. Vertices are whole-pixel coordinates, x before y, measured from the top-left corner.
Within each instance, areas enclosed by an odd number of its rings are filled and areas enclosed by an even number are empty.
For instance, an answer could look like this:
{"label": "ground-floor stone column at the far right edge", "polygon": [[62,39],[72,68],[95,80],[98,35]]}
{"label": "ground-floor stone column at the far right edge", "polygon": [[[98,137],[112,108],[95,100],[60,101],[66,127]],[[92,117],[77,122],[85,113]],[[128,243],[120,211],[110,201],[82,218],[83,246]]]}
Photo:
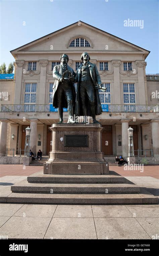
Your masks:
{"label": "ground-floor stone column at the far right edge", "polygon": [[152,145],[154,157],[159,157],[159,120],[151,120],[152,122]]}

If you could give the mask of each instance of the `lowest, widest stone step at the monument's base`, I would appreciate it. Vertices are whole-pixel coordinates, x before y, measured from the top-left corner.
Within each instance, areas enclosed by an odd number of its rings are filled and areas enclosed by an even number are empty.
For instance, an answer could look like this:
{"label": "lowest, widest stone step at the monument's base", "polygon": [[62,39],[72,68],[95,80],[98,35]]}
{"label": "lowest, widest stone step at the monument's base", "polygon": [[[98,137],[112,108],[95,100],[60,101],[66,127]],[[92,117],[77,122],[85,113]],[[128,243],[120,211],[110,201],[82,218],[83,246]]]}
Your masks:
{"label": "lowest, widest stone step at the monument's base", "polygon": [[[1,197],[2,200],[2,197]],[[135,204],[157,203],[158,198],[143,190],[140,194],[39,194],[11,193],[8,203]]]}

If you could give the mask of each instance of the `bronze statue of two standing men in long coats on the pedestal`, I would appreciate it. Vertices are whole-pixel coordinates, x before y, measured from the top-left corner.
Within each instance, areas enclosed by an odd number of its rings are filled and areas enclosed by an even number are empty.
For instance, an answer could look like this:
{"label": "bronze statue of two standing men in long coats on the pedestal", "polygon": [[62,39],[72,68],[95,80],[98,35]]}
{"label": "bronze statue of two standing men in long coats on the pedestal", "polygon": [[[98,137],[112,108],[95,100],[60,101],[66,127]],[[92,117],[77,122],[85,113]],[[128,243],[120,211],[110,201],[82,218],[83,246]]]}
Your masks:
{"label": "bronze statue of two standing men in long coats on the pedestal", "polygon": [[[75,123],[76,116],[91,116],[94,124],[99,124],[96,116],[102,114],[99,89],[102,88],[97,66],[90,62],[88,53],[81,56],[82,64],[77,73],[67,65],[69,58],[66,54],[60,56],[60,65],[53,68],[55,83],[53,86],[53,106],[57,108],[59,122],[63,123],[63,108],[68,108],[68,122]],[[74,83],[77,82],[77,92]]]}

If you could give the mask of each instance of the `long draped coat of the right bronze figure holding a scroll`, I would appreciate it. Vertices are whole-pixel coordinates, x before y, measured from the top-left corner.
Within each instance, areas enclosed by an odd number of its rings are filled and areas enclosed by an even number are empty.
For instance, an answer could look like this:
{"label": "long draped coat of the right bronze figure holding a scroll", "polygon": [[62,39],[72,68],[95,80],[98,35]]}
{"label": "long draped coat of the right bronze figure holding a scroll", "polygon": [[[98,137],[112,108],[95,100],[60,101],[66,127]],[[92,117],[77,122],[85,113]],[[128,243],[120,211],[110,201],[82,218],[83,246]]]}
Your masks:
{"label": "long draped coat of the right bronze figure holding a scroll", "polygon": [[[97,66],[91,62],[88,62],[88,66],[90,69],[90,74],[92,77],[92,82],[93,85],[99,85],[102,84],[101,78],[97,69]],[[79,116],[83,116],[83,108],[82,108],[82,102],[81,102],[81,96],[80,96],[80,81],[81,81],[81,68],[82,64],[78,67],[76,77],[75,77],[75,82],[77,82],[77,93],[76,93],[76,103],[75,103],[75,114]],[[102,114],[102,107],[101,107],[101,102],[99,98],[99,91],[98,89],[94,88],[95,92],[95,107],[96,107],[96,115]],[[87,104],[87,116],[92,117],[91,109],[88,100],[86,100]]]}

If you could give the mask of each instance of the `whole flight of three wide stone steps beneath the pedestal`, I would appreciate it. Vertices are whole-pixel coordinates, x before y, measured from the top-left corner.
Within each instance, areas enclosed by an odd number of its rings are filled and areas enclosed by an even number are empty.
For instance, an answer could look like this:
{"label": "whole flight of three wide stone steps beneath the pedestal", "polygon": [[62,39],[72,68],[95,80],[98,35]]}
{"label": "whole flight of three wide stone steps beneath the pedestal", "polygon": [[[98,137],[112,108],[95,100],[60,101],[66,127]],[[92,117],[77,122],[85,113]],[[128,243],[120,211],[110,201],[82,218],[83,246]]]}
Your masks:
{"label": "whole flight of three wide stone steps beneath the pedestal", "polygon": [[[67,168],[67,167],[66,167]],[[142,204],[158,198],[114,171],[105,175],[32,174],[11,186],[8,203]]]}

